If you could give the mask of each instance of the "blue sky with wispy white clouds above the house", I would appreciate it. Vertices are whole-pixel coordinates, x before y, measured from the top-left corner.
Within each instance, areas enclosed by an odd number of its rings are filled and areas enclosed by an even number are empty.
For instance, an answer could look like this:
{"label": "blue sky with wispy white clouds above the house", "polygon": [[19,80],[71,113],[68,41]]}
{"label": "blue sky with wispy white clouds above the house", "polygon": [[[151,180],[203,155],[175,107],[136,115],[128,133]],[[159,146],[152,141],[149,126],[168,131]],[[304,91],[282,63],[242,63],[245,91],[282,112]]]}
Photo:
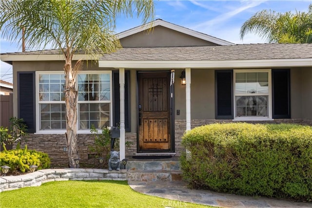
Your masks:
{"label": "blue sky with wispy white clouds above the house", "polygon": [[[312,0],[156,0],[156,19],[221,38],[236,44],[265,43],[264,39],[248,34],[239,38],[241,25],[257,11],[306,12]],[[120,17],[116,32],[141,25],[140,19]],[[27,50],[27,46],[26,46]],[[21,51],[20,44],[0,39],[0,53]],[[12,82],[12,66],[1,61],[0,79]]]}

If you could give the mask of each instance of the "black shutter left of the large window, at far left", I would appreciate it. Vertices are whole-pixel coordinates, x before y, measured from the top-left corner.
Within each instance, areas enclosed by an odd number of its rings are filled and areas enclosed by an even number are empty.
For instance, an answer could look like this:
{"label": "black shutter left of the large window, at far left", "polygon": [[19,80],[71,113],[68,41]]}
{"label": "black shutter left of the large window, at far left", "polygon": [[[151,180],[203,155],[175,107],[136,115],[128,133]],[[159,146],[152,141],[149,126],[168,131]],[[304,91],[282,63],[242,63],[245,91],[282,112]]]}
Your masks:
{"label": "black shutter left of the large window, at far left", "polygon": [[36,132],[35,72],[18,72],[18,117],[27,125],[28,133]]}

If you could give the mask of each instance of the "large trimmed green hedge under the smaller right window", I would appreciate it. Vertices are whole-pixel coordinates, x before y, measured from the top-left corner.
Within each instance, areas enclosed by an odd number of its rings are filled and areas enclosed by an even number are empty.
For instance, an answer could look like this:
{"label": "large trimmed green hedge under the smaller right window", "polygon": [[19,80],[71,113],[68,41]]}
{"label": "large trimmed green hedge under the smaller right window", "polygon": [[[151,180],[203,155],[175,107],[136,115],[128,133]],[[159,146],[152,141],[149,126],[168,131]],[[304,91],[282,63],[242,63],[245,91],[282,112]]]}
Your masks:
{"label": "large trimmed green hedge under the smaller right window", "polygon": [[186,132],[181,168],[193,188],[312,200],[312,127],[211,124]]}

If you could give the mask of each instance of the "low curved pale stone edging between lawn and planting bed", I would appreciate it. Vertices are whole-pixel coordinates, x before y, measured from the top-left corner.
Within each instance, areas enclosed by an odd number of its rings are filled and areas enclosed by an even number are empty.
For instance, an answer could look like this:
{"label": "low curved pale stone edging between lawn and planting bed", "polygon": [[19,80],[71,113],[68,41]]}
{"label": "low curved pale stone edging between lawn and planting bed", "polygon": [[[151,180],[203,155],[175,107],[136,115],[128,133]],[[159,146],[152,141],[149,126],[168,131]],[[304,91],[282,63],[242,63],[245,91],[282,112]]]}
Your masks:
{"label": "low curved pale stone edging between lawn and planting bed", "polygon": [[127,170],[107,169],[44,169],[25,175],[1,176],[0,192],[23,187],[41,186],[51,181],[68,180],[127,180]]}

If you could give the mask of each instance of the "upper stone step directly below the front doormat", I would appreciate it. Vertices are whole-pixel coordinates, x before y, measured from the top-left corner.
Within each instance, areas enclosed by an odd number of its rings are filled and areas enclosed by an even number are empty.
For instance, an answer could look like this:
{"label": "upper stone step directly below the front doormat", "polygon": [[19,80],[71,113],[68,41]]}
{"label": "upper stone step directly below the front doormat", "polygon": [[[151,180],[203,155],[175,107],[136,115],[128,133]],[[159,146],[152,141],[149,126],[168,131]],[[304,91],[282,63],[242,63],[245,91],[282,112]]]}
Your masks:
{"label": "upper stone step directly below the front doormat", "polygon": [[127,170],[180,170],[180,162],[173,160],[151,161],[130,160],[126,165]]}

